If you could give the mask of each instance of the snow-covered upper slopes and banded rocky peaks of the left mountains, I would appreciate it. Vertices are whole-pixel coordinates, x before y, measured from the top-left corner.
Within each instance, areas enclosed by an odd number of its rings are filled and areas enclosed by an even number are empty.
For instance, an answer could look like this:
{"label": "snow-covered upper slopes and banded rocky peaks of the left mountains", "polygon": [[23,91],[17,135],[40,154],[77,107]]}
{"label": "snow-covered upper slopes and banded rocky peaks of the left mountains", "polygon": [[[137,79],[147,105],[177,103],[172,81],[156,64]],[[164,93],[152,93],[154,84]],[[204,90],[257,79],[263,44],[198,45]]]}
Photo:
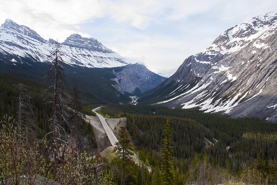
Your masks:
{"label": "snow-covered upper slopes and banded rocky peaks of the left mountains", "polygon": [[[29,27],[18,25],[10,19],[0,27],[0,53],[3,56],[13,55],[10,59],[14,64],[24,58],[31,58],[35,62],[46,62],[47,55],[55,41],[43,39]],[[116,52],[103,46],[94,38],[83,38],[72,34],[62,43],[63,59],[70,65],[88,68],[110,68],[130,64]]]}

